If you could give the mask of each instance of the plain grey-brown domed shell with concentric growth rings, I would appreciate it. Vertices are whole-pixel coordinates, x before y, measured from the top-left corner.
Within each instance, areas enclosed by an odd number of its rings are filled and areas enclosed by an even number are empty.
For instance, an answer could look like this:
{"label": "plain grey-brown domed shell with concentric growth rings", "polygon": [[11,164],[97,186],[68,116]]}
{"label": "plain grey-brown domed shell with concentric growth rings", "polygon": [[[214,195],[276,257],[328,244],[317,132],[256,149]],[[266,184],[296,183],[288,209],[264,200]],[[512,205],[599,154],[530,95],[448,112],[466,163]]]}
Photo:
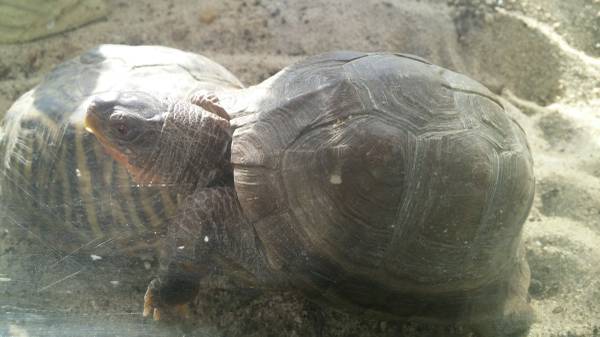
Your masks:
{"label": "plain grey-brown domed shell with concentric growth rings", "polygon": [[233,120],[232,163],[273,269],[396,317],[503,310],[511,287],[525,300],[532,159],[494,94],[418,57],[355,52],[262,86]]}

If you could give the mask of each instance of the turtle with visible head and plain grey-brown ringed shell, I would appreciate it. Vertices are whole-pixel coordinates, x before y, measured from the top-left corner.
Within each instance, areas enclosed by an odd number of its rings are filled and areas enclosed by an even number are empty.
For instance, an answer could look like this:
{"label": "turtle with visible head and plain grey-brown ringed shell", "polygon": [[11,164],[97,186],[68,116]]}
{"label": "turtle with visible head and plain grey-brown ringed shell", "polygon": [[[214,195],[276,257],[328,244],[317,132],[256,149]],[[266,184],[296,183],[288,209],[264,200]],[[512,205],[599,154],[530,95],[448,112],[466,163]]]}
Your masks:
{"label": "turtle with visible head and plain grey-brown ringed shell", "polygon": [[181,186],[160,319],[227,271],[373,317],[526,330],[535,178],[515,108],[412,55],[337,51],[188,101],[94,98],[86,127],[135,179]]}

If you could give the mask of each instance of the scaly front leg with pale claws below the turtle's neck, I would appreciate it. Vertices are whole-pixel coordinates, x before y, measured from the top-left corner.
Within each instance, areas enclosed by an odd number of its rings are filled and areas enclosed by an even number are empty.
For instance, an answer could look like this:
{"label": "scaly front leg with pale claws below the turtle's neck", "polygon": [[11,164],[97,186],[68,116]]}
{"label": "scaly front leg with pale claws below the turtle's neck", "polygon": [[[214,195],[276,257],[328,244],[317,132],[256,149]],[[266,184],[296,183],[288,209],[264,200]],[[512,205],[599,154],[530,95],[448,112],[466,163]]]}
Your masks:
{"label": "scaly front leg with pale claws below the turtle's neck", "polygon": [[199,189],[185,199],[175,219],[168,229],[166,261],[144,296],[143,314],[155,320],[187,316],[200,281],[216,271],[235,268],[253,275],[265,265],[233,187]]}

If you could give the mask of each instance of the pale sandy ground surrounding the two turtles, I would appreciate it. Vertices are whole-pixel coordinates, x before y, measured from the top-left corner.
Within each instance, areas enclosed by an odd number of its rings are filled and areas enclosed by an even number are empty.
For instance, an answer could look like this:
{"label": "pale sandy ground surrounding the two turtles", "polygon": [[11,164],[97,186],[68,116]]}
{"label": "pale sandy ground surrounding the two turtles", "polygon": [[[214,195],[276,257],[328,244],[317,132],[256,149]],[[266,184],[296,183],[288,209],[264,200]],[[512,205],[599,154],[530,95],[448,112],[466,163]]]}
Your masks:
{"label": "pale sandy ground surrounding the two turtles", "polygon": [[[422,56],[472,76],[523,112],[515,117],[527,132],[537,178],[524,228],[537,314],[529,336],[600,335],[600,1],[107,3],[104,21],[0,46],[0,114],[53,66],[101,43],[200,53],[246,84],[334,49]],[[82,261],[63,266],[71,276],[52,284],[29,279],[48,272],[42,264],[51,248],[23,238],[14,224],[0,230],[0,279],[12,280],[0,282],[0,336],[469,335],[461,327],[357,318],[293,293],[211,292],[192,322],[150,324],[140,317],[145,283],[138,279],[149,277],[152,258]],[[110,283],[114,278],[120,282]]]}

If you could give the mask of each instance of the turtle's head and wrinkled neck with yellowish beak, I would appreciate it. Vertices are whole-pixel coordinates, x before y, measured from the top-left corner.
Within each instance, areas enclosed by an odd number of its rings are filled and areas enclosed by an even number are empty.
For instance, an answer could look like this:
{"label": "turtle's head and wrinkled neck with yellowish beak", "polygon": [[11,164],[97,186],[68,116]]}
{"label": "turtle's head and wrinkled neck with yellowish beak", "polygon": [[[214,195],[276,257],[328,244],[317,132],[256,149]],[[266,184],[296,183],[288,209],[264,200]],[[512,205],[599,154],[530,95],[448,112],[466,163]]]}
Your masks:
{"label": "turtle's head and wrinkled neck with yellowish beak", "polygon": [[89,105],[85,127],[139,183],[193,189],[226,174],[229,123],[190,103],[105,93]]}

